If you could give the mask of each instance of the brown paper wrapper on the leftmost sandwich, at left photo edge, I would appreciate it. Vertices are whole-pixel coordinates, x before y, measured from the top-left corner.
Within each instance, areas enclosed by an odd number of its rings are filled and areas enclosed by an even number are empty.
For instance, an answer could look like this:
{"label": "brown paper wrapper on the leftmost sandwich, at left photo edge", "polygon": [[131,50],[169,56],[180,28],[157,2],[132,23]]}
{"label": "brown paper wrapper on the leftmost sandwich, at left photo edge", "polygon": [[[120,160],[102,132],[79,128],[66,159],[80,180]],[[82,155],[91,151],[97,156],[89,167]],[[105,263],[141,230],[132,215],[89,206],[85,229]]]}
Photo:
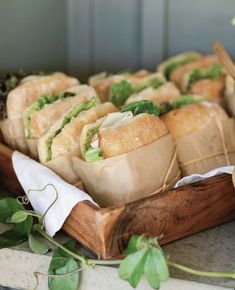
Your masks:
{"label": "brown paper wrapper on the leftmost sandwich, at left photo edge", "polygon": [[28,153],[28,145],[24,134],[23,119],[5,119],[0,122],[4,141],[15,150]]}

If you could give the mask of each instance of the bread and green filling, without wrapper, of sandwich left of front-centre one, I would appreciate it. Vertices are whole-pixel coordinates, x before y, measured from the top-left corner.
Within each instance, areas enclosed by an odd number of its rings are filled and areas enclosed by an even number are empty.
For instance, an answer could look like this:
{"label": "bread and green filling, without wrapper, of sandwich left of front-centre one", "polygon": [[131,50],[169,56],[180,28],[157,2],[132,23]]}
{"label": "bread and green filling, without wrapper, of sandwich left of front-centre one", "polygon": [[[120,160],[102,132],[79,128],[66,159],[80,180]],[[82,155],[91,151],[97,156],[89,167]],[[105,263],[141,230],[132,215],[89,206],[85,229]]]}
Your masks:
{"label": "bread and green filling, without wrapper, of sandwich left of front-centre one", "polygon": [[55,160],[76,150],[80,154],[79,139],[82,128],[104,117],[110,112],[117,111],[111,103],[100,104],[97,97],[82,102],[64,113],[38,141],[39,159],[42,163]]}

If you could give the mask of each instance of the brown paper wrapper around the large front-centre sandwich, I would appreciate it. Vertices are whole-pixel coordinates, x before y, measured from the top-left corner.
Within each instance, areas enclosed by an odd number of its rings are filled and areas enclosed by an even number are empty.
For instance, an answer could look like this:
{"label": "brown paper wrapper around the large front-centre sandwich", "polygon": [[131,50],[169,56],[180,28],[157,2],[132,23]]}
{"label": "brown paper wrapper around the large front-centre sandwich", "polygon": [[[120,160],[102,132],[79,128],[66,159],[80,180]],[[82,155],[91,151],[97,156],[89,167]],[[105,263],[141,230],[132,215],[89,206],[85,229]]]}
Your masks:
{"label": "brown paper wrapper around the large front-centre sandwich", "polygon": [[101,206],[124,204],[166,189],[180,177],[171,136],[97,162],[73,157],[86,190]]}

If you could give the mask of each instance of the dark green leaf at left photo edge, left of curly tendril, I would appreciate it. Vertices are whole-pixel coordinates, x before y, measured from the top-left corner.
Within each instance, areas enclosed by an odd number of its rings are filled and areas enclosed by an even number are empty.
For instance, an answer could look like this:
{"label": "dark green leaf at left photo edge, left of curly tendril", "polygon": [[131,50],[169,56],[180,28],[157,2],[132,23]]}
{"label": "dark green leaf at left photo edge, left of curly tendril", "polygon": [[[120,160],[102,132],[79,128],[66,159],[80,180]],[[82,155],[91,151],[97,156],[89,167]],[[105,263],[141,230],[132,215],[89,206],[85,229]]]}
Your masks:
{"label": "dark green leaf at left photo edge, left of curly tendril", "polygon": [[17,211],[24,210],[15,198],[0,199],[0,222],[7,223]]}

